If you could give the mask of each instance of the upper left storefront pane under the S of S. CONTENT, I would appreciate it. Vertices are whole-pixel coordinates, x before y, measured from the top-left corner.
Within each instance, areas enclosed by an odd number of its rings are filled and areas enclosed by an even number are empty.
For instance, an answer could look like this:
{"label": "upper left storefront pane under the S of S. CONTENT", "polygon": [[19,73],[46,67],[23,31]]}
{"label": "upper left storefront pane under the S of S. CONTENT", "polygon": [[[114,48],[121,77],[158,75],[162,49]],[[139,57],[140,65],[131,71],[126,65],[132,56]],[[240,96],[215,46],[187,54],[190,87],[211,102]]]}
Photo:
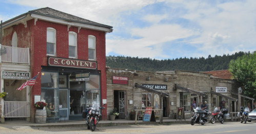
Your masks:
{"label": "upper left storefront pane under the S of S. CONTENT", "polygon": [[58,88],[58,74],[51,72],[42,72],[41,87]]}

